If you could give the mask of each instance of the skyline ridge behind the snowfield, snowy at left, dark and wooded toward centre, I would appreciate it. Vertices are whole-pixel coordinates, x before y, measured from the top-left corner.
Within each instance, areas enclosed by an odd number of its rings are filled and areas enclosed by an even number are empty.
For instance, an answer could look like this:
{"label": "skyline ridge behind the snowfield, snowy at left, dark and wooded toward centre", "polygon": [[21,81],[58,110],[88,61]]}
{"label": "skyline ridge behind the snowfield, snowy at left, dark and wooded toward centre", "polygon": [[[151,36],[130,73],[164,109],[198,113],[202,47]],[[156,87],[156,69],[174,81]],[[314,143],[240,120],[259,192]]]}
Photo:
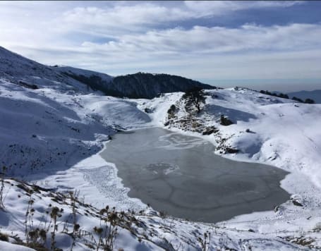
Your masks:
{"label": "skyline ridge behind the snowfield, snowy at left, dark and wooded toward centre", "polygon": [[112,77],[104,73],[68,66],[44,66],[0,47],[0,78],[25,87],[52,87],[83,92],[101,91],[114,97],[147,98],[166,92],[185,92],[212,85],[176,75],[135,73]]}

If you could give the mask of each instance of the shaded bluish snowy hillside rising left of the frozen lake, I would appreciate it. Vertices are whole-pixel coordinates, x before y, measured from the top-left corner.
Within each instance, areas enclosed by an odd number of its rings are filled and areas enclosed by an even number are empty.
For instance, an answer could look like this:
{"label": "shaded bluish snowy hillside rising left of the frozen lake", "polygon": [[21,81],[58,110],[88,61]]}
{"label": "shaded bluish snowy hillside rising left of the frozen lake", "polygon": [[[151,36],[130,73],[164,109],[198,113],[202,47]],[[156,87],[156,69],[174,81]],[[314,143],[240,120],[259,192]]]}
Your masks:
{"label": "shaded bluish snowy hillside rising left of the frozen lake", "polygon": [[[123,119],[121,114],[128,113]],[[29,88],[0,80],[1,165],[15,176],[30,169],[64,169],[88,157],[119,125],[150,118],[135,103],[93,94]],[[76,155],[75,159],[73,156]]]}

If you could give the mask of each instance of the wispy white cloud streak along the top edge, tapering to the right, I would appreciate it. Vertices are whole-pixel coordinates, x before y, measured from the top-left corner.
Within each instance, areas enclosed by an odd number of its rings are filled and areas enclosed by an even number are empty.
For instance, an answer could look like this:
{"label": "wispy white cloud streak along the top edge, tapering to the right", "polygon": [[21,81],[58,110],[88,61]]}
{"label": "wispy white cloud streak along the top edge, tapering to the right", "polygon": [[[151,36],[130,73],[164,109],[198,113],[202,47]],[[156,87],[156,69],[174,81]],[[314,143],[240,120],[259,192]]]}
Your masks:
{"label": "wispy white cloud streak along the top edge, tapering to the right", "polygon": [[185,1],[179,6],[152,2],[116,4],[106,8],[78,7],[63,13],[63,21],[75,27],[95,27],[99,32],[146,30],[152,25],[164,25],[193,18],[224,16],[233,11],[253,8],[289,7],[303,1]]}

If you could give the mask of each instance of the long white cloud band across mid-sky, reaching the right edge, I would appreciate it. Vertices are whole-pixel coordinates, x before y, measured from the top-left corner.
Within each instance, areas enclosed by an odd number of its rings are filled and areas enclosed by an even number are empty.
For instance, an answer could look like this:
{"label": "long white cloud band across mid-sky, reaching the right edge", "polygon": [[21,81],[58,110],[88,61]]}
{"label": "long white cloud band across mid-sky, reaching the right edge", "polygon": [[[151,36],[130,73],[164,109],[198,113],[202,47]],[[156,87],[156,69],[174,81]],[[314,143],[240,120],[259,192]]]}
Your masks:
{"label": "long white cloud band across mid-sky, reaching the right edge", "polygon": [[104,44],[84,42],[85,48],[110,54],[217,54],[236,51],[320,49],[321,25],[291,24],[238,28],[201,27],[150,31],[140,35],[122,35]]}

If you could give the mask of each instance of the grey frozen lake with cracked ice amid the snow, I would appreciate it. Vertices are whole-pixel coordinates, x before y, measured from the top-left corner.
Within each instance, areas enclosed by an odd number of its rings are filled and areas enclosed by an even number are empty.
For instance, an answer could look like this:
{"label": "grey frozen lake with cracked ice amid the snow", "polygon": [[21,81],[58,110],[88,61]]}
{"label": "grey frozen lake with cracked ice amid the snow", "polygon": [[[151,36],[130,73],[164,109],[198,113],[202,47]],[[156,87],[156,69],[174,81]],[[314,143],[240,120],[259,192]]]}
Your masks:
{"label": "grey frozen lake with cracked ice amid the snow", "polygon": [[183,219],[223,221],[289,200],[279,186],[286,171],[213,152],[198,137],[147,128],[116,134],[102,157],[116,164],[129,197]]}

